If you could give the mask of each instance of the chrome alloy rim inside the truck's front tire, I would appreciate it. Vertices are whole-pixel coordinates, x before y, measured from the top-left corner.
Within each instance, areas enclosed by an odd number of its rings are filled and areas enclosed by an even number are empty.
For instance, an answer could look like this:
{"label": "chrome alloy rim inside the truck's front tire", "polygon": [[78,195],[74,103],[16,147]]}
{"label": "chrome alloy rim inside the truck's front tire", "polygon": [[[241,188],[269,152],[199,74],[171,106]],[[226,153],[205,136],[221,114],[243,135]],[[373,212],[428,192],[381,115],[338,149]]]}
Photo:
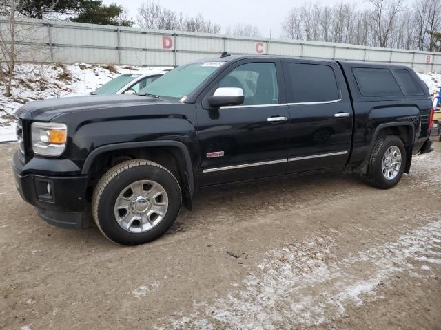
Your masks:
{"label": "chrome alloy rim inside the truck's front tire", "polygon": [[116,198],[115,219],[128,232],[147,232],[167,213],[168,196],[164,187],[151,180],[136,181]]}

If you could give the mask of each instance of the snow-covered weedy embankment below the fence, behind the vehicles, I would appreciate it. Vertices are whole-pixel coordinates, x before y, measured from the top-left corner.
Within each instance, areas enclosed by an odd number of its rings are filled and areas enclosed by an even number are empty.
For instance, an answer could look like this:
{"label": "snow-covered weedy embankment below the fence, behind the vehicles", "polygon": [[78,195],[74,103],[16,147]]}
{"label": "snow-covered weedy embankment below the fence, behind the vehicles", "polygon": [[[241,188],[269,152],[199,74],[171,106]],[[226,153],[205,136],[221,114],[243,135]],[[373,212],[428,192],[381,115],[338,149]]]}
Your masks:
{"label": "snow-covered weedy embankment below the fence, behind the vehicles", "polygon": [[[12,96],[5,98],[4,88],[0,86],[0,142],[15,139],[15,111],[26,102],[89,94],[96,88],[119,74],[135,72],[158,72],[163,67],[136,67],[114,65],[17,65]],[[441,74],[419,74],[429,86],[431,93],[438,96]]]}

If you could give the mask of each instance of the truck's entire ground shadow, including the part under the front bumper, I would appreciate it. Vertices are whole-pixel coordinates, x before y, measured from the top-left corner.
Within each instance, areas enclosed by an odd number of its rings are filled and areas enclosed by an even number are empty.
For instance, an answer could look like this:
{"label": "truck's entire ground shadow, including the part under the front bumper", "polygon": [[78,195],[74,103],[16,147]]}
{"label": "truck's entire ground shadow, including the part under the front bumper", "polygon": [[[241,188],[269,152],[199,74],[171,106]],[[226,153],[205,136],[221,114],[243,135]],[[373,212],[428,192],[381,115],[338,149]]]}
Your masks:
{"label": "truck's entire ground shadow, including the part under the front bumper", "polygon": [[[341,172],[320,173],[301,177],[281,176],[240,184],[204,188],[196,193],[193,210],[181,208],[181,213],[172,228],[160,239],[149,243],[150,247],[170,244],[170,239],[186,239],[189,236],[210,232],[218,225],[233,225],[238,221],[254,221],[256,212],[280,212],[325,203],[332,199],[353,193],[354,190],[373,189],[366,186],[362,178],[356,175],[344,175]],[[39,219],[39,221],[41,221]],[[59,236],[59,243],[70,245],[91,245],[96,248],[119,249],[121,245],[110,243],[93,223],[88,230],[76,232],[61,228],[48,229]],[[56,242],[56,244],[58,244]],[[113,250],[113,249],[112,249]]]}

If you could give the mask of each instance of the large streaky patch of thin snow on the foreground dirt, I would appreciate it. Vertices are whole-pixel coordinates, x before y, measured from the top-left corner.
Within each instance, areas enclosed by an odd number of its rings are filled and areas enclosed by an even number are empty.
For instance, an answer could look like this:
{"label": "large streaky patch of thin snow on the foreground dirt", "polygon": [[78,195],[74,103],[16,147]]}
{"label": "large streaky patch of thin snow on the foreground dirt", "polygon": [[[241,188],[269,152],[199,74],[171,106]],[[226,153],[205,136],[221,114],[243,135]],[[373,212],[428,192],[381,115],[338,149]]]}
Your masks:
{"label": "large streaky patch of thin snow on the foreground dirt", "polygon": [[333,250],[340,236],[320,234],[267,252],[241,287],[195,303],[190,314],[167,318],[158,329],[278,329],[287,320],[292,327],[316,326],[344,316],[350,304],[377,299],[377,288],[396,274],[422,276],[412,262],[441,263],[441,221],[344,259]]}

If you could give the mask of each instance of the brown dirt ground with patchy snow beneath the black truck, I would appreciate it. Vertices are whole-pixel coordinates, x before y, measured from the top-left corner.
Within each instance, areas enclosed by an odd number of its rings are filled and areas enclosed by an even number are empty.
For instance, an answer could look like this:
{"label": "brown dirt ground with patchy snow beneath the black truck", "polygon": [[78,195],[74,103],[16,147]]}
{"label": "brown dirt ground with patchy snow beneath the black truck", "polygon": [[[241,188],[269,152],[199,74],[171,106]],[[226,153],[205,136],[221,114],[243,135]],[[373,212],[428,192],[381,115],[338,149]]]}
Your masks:
{"label": "brown dirt ground with patchy snow beneath the black truck", "polygon": [[1,329],[441,329],[441,144],[396,188],[313,177],[204,190],[137,247],[43,222],[0,145]]}

